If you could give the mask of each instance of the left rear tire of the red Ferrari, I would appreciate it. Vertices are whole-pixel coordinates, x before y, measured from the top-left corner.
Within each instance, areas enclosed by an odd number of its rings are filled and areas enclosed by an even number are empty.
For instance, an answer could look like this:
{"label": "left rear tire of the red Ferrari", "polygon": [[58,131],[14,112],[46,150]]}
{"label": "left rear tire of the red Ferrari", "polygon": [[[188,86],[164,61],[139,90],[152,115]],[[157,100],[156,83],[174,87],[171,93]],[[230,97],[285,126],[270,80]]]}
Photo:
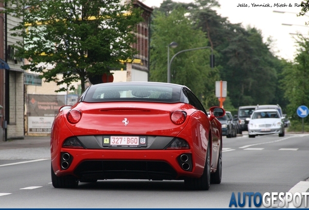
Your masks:
{"label": "left rear tire of the red Ferrari", "polygon": [[51,166],[51,182],[54,188],[76,188],[78,179],[72,175],[57,176]]}

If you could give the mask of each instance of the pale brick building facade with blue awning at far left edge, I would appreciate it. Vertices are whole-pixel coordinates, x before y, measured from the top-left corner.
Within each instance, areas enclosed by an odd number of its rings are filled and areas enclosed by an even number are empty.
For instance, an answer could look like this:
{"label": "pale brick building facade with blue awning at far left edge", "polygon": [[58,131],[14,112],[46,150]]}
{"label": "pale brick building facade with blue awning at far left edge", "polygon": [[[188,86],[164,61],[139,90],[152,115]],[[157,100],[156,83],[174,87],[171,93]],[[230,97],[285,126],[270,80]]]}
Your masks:
{"label": "pale brick building facade with blue awning at far left edge", "polygon": [[[0,8],[3,10],[3,2]],[[10,29],[20,18],[0,15],[0,140],[24,138],[24,70],[23,59],[16,56],[13,45],[22,37],[12,36]]]}

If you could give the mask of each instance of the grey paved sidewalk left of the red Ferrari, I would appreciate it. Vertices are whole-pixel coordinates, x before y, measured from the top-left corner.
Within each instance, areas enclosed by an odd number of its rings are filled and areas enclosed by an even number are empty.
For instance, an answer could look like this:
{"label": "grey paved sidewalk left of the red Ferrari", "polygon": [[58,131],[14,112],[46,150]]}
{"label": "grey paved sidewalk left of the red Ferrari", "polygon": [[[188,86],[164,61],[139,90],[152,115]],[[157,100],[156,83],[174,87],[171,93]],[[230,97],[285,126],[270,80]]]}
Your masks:
{"label": "grey paved sidewalk left of the red Ferrari", "polygon": [[50,141],[51,137],[37,136],[0,141],[0,160],[51,158]]}

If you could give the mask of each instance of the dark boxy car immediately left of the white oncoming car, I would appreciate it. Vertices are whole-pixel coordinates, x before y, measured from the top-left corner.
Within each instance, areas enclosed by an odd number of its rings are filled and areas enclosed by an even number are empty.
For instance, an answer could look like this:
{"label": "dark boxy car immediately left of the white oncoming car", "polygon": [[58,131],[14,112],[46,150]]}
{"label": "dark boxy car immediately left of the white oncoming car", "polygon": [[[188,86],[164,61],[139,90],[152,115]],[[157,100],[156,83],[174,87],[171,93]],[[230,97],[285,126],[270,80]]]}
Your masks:
{"label": "dark boxy car immediately left of the white oncoming car", "polygon": [[240,106],[238,108],[238,115],[235,118],[238,118],[239,134],[242,134],[242,131],[248,131],[250,116],[255,109],[255,105]]}

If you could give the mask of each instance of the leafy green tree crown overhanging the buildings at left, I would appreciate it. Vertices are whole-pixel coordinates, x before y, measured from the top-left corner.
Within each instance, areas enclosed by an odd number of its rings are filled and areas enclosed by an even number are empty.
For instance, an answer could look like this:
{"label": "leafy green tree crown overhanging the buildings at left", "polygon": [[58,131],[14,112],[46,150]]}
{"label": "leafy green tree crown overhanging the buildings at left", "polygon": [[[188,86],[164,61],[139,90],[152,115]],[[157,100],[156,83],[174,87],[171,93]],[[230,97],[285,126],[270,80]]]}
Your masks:
{"label": "leafy green tree crown overhanging the buildings at left", "polygon": [[[120,68],[120,60],[132,59],[137,53],[136,24],[141,11],[133,1],[121,0],[25,0],[9,2],[7,12],[23,17],[13,30],[24,29],[17,47],[20,57],[30,60],[24,70],[41,73],[45,82],[55,81],[73,90],[72,82],[81,81],[82,92],[90,76]],[[26,9],[25,9],[26,8]],[[51,69],[48,69],[51,66]],[[57,74],[63,74],[57,79]]]}

